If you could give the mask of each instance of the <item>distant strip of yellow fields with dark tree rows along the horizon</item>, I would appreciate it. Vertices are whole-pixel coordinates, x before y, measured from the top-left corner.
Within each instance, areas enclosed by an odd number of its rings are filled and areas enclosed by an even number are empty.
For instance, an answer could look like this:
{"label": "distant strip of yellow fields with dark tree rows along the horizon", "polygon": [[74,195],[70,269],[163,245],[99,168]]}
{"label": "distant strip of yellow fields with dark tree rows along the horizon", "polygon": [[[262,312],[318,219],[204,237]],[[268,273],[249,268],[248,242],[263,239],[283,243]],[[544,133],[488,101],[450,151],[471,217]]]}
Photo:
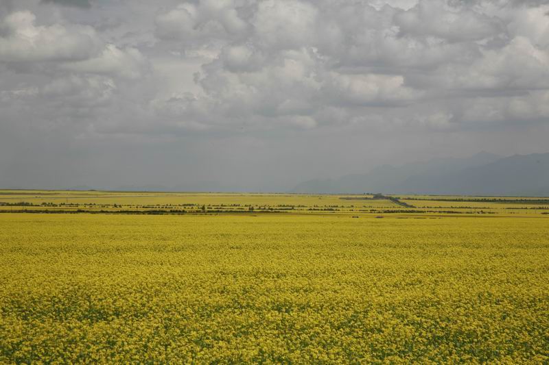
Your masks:
{"label": "distant strip of yellow fields with dark tree rows along the horizon", "polygon": [[549,215],[548,198],[0,190],[6,212]]}

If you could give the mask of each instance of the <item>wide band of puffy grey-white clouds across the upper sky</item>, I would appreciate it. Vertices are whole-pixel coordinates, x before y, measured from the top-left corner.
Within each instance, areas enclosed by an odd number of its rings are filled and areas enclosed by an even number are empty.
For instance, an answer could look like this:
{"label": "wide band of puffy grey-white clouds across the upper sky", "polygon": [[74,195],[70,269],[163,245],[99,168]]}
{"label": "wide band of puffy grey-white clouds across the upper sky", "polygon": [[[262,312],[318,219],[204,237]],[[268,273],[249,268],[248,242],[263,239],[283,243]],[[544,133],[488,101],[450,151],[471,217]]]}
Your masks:
{"label": "wide band of puffy grey-white clouds across the upper sky", "polygon": [[[543,98],[524,96],[549,88],[543,2],[196,0],[147,7],[149,18],[156,14],[153,42],[144,41],[153,36],[145,27],[150,34],[126,35],[62,17],[84,14],[79,8],[49,18],[36,9],[8,14],[0,64],[40,81],[11,81],[3,100],[51,102],[70,97],[55,96],[55,88],[74,88],[71,103],[97,98],[91,112],[110,105],[119,119],[129,119],[124,110],[142,109],[143,118],[159,119],[136,127],[140,133],[155,126],[318,129],[384,121],[453,129],[468,128],[482,113],[493,121],[544,115],[534,108]],[[95,119],[132,129],[117,118]]]}

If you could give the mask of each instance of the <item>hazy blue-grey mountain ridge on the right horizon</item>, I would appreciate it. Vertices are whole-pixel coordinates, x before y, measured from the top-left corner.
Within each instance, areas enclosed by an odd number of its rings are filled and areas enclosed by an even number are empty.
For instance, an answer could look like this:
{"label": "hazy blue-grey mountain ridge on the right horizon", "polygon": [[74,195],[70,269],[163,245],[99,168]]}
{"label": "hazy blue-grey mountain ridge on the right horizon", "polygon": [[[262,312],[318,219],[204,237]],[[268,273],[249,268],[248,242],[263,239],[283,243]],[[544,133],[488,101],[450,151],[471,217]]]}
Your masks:
{"label": "hazy blue-grey mountain ridge on the right horizon", "polygon": [[340,179],[305,181],[292,192],[456,195],[549,195],[549,153],[502,158],[435,158],[404,166],[379,166]]}

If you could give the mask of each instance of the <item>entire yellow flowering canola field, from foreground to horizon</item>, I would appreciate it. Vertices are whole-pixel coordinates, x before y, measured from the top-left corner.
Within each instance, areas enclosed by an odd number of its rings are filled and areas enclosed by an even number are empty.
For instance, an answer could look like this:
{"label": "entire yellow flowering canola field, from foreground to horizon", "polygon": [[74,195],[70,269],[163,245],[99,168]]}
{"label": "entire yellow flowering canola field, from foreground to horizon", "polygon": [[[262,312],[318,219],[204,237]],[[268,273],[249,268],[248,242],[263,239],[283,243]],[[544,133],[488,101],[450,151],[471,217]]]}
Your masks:
{"label": "entire yellow flowering canola field, from foreground to horizon", "polygon": [[549,362],[549,199],[0,190],[0,363]]}

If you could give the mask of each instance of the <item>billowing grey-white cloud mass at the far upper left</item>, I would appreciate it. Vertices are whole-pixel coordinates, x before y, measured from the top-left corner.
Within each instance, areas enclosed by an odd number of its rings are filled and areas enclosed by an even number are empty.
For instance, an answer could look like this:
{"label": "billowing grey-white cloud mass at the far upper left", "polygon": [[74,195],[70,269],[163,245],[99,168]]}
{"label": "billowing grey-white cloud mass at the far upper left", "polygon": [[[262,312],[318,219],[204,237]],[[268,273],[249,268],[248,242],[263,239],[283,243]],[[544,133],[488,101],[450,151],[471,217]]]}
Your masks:
{"label": "billowing grey-white cloud mass at the far upper left", "polygon": [[14,9],[0,20],[2,111],[42,129],[93,130],[107,117],[123,123],[112,116],[143,104],[140,95],[148,91],[135,90],[135,83],[149,77],[148,58],[91,25],[59,18],[55,9],[47,16],[51,10]]}

